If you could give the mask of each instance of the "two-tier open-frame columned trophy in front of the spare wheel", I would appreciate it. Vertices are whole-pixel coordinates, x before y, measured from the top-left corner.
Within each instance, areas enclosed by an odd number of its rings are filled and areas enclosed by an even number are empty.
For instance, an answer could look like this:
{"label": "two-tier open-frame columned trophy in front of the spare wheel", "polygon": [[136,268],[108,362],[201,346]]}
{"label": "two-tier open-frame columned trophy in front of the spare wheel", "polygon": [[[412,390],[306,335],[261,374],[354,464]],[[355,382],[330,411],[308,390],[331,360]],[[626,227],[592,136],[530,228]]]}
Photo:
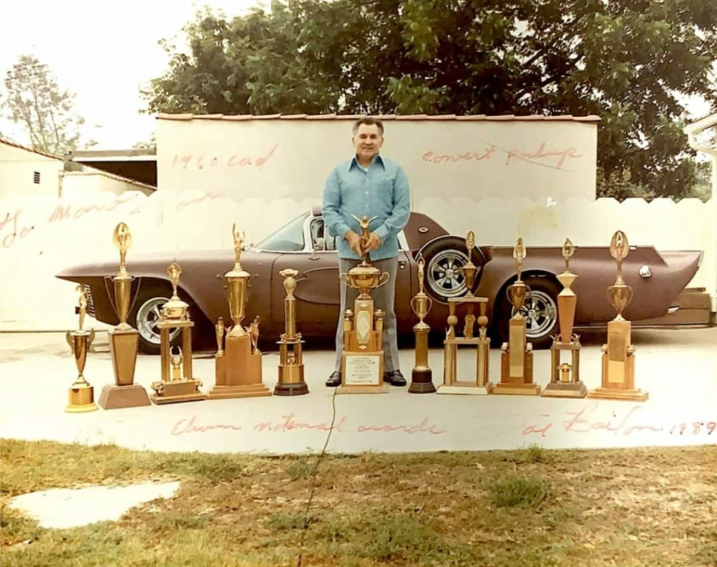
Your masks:
{"label": "two-tier open-frame columned trophy in front of the spare wheel", "polygon": [[[448,300],[448,329],[446,338],[443,341],[443,383],[438,386],[438,394],[473,394],[487,396],[493,391],[493,383],[488,381],[488,355],[490,353],[490,338],[488,338],[488,316],[485,314],[488,308],[488,297],[476,297],[473,295],[473,285],[479,267],[472,261],[473,248],[475,247],[475,233],[468,232],[465,237],[465,244],[468,250],[468,262],[460,270],[465,277],[467,292],[463,297],[450,297]],[[456,335],[455,326],[458,317],[455,314],[459,305],[465,305],[465,315],[462,336]],[[475,305],[478,305],[480,315],[475,318]],[[473,334],[475,323],[478,322],[478,337]],[[457,358],[458,347],[475,345],[475,379],[458,380]]]}

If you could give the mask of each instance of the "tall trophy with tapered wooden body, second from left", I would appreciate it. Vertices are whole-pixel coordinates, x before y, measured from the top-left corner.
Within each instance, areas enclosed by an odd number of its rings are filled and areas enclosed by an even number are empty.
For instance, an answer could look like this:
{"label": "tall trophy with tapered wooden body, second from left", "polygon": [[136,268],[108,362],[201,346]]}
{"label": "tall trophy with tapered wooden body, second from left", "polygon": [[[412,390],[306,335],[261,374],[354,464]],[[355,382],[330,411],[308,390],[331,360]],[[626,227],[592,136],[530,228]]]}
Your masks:
{"label": "tall trophy with tapered wooden body, second from left", "polygon": [[[151,403],[147,391],[140,384],[134,383],[139,333],[127,323],[127,315],[130,310],[130,288],[134,278],[127,273],[125,265],[127,250],[132,245],[132,234],[125,223],[120,222],[115,227],[112,240],[120,251],[120,271],[112,278],[115,287],[115,300],[112,306],[120,324],[107,333],[110,340],[115,383],[114,385],[107,384],[102,389],[98,404],[103,409],[149,406]],[[109,290],[108,296],[112,297]]]}

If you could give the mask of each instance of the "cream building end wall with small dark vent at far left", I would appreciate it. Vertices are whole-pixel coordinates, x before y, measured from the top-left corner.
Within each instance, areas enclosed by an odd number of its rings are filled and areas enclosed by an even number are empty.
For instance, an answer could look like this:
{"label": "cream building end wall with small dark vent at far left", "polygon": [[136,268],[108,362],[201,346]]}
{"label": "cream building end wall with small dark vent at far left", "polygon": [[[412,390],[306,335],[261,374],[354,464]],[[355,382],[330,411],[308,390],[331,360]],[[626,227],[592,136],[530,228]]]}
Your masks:
{"label": "cream building end wall with small dark vent at far left", "polygon": [[[11,196],[57,197],[64,163],[0,141],[0,199]],[[39,173],[39,184],[34,173]]]}

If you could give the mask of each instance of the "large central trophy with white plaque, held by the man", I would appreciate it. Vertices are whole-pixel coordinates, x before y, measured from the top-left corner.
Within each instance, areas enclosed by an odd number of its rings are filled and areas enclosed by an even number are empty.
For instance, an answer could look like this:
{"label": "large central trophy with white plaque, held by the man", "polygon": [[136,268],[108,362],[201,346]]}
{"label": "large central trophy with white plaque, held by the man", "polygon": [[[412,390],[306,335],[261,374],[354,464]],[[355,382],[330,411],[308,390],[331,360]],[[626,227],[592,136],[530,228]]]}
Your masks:
{"label": "large central trophy with white plaque, held by the man", "polygon": [[[361,224],[361,263],[340,275],[341,280],[359,296],[353,302],[353,311],[343,314],[343,353],[341,354],[341,386],[337,394],[386,394],[384,383],[384,310],[374,309],[370,291],[389,280],[389,273],[371,266],[367,261],[366,242],[369,224],[374,219],[351,215]],[[374,217],[375,218],[375,217]]]}

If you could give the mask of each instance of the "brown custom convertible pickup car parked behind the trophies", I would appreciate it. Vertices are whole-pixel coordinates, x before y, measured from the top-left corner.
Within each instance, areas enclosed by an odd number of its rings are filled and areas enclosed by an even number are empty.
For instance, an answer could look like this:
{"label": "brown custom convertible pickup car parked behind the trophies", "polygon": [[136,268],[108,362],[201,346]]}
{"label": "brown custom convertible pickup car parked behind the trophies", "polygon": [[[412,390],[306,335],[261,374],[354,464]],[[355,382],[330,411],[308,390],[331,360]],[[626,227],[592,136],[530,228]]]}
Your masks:
{"label": "brown custom convertible pickup car parked behind the trophies", "polygon": [[[460,268],[467,262],[464,237],[448,234],[428,216],[412,213],[407,227],[399,234],[399,271],[397,275],[396,314],[399,335],[409,335],[417,323],[410,301],[418,292],[417,257],[426,262],[425,291],[433,307],[426,322],[433,333],[445,335],[447,300],[465,295],[465,280]],[[480,243],[478,243],[480,244]],[[528,244],[528,243],[526,243]],[[530,293],[523,308],[527,318],[528,340],[533,348],[546,348],[557,332],[556,297],[561,285],[556,274],[565,268],[560,247],[526,247],[522,279]],[[227,304],[224,274],[234,265],[234,250],[186,252],[186,254],[129,254],[127,268],[133,282],[133,305],[128,322],[140,333],[141,350],[158,352],[159,333],[156,323],[159,310],[171,297],[166,268],[176,259],[181,266],[179,294],[189,303],[197,332],[214,335],[213,323],[224,318],[232,324]],[[630,247],[623,263],[623,276],[634,291],[635,299],[625,310],[625,317],[651,320],[678,309],[676,300],[697,272],[702,252],[657,252],[653,247]],[[513,247],[476,246],[473,263],[480,267],[475,295],[488,297],[488,316],[493,345],[507,340],[508,319],[513,307],[506,289],[516,280]],[[247,325],[260,317],[262,348],[272,348],[284,331],[284,297],[282,277],[285,268],[298,270],[296,315],[303,336],[331,338],[336,334],[339,308],[338,261],[336,237],[324,229],[320,207],[298,216],[282,229],[258,244],[245,247],[241,263],[250,273],[246,313]],[[615,316],[607,299],[607,287],[616,277],[615,261],[608,247],[576,247],[570,270],[579,276],[572,286],[578,297],[576,328],[604,325]],[[111,277],[118,271],[115,261],[103,264],[68,267],[57,277],[85,285],[90,315],[103,323],[116,325]],[[172,337],[176,338],[179,332]]]}

